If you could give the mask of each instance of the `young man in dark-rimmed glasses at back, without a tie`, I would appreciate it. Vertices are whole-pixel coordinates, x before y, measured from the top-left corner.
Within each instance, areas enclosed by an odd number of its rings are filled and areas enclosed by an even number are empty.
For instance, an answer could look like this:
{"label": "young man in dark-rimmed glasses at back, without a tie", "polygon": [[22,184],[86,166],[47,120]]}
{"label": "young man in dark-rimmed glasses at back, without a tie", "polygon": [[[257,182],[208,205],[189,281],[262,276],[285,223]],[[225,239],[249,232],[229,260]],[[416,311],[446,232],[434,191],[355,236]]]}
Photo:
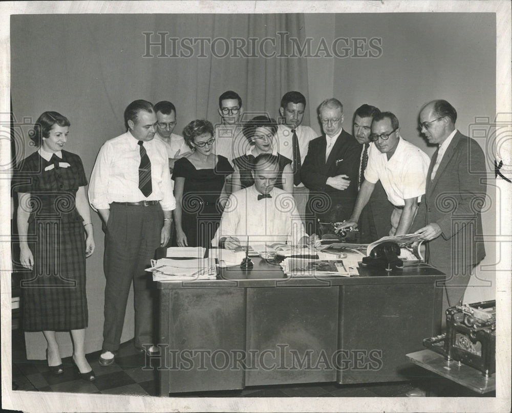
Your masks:
{"label": "young man in dark-rimmed glasses at back, without a tie", "polygon": [[244,112],[240,95],[233,91],[220,95],[218,112],[221,123],[215,125],[214,153],[222,155],[233,166],[233,159],[244,155],[249,148],[240,124]]}

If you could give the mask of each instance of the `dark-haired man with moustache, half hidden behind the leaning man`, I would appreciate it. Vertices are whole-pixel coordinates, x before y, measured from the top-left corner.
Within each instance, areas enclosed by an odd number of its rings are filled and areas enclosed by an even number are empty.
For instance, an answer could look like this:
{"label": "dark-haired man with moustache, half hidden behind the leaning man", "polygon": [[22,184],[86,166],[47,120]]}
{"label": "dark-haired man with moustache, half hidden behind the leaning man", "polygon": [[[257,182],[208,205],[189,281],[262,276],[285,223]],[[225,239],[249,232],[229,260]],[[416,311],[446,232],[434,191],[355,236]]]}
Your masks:
{"label": "dark-haired man with moustache, half hidden behind the leaning man", "polygon": [[[365,180],[365,169],[368,165],[368,155],[370,153],[370,134],[372,132],[373,117],[379,114],[377,107],[362,104],[354,113],[353,129],[354,138],[361,144],[361,157],[359,160],[359,176],[357,189],[361,188]],[[380,181],[377,181],[375,188],[370,196],[370,201],[362,209],[359,218],[359,242],[369,244],[379,240],[383,236],[388,236],[391,229],[391,213],[393,204],[389,202],[388,195],[382,187]]]}

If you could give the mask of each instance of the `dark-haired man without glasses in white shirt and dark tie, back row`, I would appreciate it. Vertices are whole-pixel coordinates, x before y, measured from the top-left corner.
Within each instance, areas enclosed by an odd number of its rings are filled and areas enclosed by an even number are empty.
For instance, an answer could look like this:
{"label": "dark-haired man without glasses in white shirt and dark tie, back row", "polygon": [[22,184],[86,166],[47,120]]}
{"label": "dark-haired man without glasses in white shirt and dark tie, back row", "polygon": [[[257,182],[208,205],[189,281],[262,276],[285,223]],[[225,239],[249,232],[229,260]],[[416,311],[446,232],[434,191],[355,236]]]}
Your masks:
{"label": "dark-haired man without glasses in white shirt and dark tie, back row", "polygon": [[311,127],[301,124],[305,109],[306,98],[301,92],[285,93],[279,108],[281,123],[276,134],[278,152],[292,161],[293,198],[303,219],[309,190],[301,181],[301,166],[308,154],[309,142],[318,136]]}

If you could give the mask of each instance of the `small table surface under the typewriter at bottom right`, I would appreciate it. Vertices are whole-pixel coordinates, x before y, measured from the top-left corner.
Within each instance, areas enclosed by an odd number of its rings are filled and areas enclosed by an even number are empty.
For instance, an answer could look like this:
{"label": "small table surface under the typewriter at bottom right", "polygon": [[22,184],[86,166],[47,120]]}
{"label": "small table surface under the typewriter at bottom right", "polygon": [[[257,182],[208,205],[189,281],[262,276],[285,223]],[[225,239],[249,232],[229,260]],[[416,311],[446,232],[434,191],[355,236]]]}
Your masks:
{"label": "small table surface under the typewriter at bottom right", "polygon": [[442,355],[431,350],[421,350],[406,356],[414,364],[471,388],[477,393],[484,394],[496,390],[496,374],[485,378],[476,368],[458,361],[446,361]]}

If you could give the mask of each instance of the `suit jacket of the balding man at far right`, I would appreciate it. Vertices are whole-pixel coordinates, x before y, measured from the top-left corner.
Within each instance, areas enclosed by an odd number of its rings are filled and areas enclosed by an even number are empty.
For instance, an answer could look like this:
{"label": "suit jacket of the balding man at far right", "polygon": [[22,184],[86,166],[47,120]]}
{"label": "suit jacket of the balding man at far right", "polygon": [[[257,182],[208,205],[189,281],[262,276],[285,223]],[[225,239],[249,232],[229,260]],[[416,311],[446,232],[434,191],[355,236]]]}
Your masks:
{"label": "suit jacket of the balding man at far right", "polygon": [[432,181],[438,151],[430,162],[424,202],[413,229],[434,222],[439,225],[441,235],[426,243],[428,262],[448,275],[456,275],[461,266],[476,265],[485,256],[483,241],[477,239],[482,235],[485,157],[474,139],[457,131]]}

